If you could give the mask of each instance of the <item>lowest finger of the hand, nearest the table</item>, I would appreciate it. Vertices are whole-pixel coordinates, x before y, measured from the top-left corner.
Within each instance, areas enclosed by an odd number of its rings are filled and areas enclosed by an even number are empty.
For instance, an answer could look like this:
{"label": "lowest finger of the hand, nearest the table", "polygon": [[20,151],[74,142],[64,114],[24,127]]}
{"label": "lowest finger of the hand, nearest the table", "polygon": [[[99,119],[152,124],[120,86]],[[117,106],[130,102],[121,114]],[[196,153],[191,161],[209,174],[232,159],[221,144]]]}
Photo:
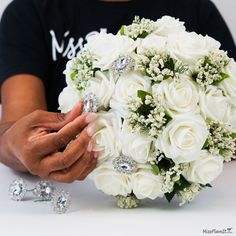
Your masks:
{"label": "lowest finger of the hand, nearest the table", "polygon": [[97,159],[92,152],[86,151],[71,167],[55,171],[49,174],[48,178],[57,182],[72,183],[75,180],[84,180],[89,173],[96,168]]}

